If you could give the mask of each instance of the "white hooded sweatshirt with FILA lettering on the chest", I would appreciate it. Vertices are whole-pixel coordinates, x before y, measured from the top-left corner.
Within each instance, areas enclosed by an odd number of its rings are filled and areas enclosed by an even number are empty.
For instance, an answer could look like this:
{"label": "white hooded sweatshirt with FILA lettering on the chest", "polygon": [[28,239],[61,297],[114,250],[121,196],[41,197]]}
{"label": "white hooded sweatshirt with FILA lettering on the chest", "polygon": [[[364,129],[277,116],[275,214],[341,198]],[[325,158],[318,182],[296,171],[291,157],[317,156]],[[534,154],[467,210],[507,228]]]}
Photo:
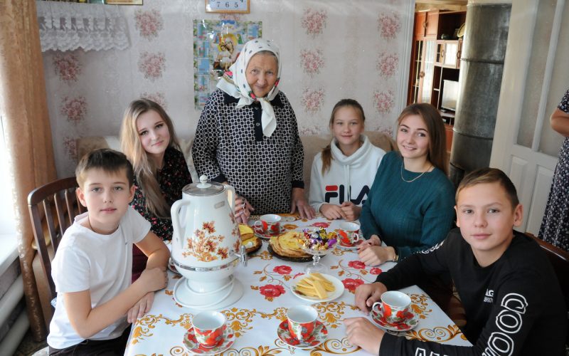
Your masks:
{"label": "white hooded sweatshirt with FILA lettering on the chest", "polygon": [[352,155],[344,155],[336,139],[332,139],[330,170],[322,175],[322,152],[312,162],[310,173],[309,204],[316,211],[324,203],[339,205],[352,201],[358,206],[368,198],[368,192],[376,177],[385,151],[374,146],[366,135],[361,135],[362,145]]}

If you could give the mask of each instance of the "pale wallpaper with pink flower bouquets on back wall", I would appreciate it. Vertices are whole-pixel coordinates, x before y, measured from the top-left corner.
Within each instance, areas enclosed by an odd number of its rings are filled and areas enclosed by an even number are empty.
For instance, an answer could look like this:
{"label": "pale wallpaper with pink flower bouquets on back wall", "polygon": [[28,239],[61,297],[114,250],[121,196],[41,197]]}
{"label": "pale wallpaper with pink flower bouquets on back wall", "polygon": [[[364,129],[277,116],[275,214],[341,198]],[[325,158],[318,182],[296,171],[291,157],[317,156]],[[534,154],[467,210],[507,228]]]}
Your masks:
{"label": "pale wallpaper with pink flower bouquets on back wall", "polygon": [[262,23],[262,36],[280,46],[280,88],[301,135],[328,134],[331,109],[342,98],[361,103],[367,130],[393,132],[406,102],[414,1],[255,0],[250,14],[231,15],[204,8],[197,0],[120,6],[126,50],[43,53],[60,177],[73,174],[76,139],[117,136],[136,98],[160,103],[176,134],[193,137],[201,113],[193,99],[194,20]]}

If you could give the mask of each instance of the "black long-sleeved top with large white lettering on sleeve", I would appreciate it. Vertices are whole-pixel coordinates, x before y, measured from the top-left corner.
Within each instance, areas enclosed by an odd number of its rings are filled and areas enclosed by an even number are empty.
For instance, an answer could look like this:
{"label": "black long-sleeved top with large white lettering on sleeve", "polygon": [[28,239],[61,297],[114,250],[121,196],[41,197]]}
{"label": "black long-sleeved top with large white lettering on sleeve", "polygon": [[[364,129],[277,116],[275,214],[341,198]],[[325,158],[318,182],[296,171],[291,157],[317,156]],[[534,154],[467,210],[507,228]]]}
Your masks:
{"label": "black long-sleeved top with large white lettering on sleeve", "polygon": [[450,273],[464,305],[462,332],[472,347],[407,340],[385,333],[383,355],[565,355],[567,309],[546,253],[528,236],[514,239],[498,261],[481,267],[459,229],[416,253],[377,281],[389,290]]}

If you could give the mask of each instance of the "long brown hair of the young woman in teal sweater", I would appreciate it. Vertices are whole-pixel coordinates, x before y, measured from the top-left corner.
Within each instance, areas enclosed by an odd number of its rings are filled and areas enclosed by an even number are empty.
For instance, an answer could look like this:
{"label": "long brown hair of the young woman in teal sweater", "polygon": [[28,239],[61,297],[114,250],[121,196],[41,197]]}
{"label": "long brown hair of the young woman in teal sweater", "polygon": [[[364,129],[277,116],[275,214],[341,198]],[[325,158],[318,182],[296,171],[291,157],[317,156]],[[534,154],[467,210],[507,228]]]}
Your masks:
{"label": "long brown hair of the young woman in teal sweater", "polygon": [[415,103],[403,109],[397,119],[397,127],[401,125],[401,121],[409,115],[419,115],[429,133],[429,152],[427,159],[433,166],[445,172],[448,175],[447,167],[447,136],[445,133],[445,125],[442,124],[442,117],[439,111],[432,105],[427,103]]}

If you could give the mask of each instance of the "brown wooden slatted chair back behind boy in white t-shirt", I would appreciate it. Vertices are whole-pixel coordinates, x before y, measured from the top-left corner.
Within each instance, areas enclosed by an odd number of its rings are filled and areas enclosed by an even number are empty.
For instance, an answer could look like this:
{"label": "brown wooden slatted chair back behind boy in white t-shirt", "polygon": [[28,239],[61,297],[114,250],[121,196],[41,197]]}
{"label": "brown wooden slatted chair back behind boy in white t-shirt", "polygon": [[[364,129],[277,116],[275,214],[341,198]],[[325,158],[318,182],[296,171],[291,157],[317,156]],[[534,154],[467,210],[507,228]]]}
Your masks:
{"label": "brown wooden slatted chair back behind boy in white t-shirt", "polygon": [[75,216],[86,211],[75,194],[77,187],[75,177],[69,177],[33,189],[28,195],[33,237],[52,299],[55,298],[56,293],[55,284],[51,278],[51,258],[48,247],[51,246],[51,256],[55,256],[65,230],[73,224]]}

